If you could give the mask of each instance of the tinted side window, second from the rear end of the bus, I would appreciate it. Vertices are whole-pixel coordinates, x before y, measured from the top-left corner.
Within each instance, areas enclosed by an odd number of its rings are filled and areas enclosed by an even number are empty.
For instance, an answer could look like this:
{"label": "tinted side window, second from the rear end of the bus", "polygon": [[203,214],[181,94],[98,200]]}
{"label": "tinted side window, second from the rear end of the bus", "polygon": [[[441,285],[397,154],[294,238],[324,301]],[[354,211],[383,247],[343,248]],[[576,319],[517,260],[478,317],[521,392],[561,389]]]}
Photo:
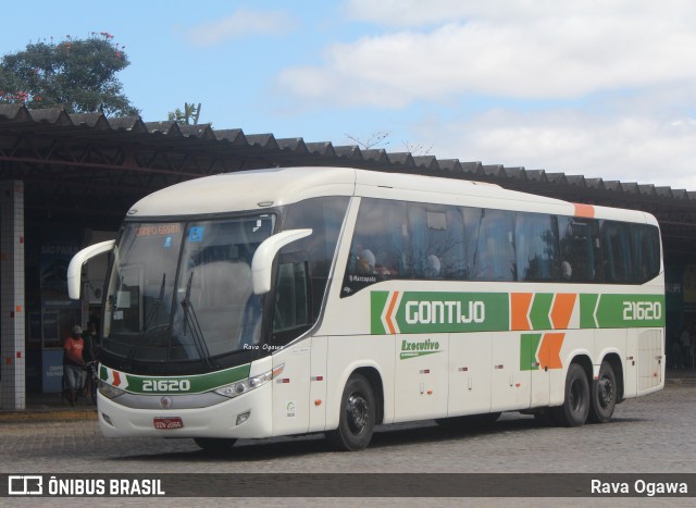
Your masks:
{"label": "tinted side window, second from the rear end of the bus", "polygon": [[631,252],[631,225],[613,221],[600,221],[601,253],[605,281],[629,284],[634,281]]}

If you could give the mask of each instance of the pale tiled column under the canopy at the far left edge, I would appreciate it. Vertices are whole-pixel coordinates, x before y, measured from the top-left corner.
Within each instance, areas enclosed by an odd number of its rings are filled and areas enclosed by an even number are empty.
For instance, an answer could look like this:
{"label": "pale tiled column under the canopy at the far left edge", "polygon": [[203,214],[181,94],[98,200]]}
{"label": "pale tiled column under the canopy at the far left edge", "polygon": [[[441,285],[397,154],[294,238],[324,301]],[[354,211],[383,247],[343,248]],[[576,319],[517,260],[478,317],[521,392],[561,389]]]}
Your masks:
{"label": "pale tiled column under the canopy at the far left edge", "polygon": [[24,183],[0,182],[0,409],[26,408]]}

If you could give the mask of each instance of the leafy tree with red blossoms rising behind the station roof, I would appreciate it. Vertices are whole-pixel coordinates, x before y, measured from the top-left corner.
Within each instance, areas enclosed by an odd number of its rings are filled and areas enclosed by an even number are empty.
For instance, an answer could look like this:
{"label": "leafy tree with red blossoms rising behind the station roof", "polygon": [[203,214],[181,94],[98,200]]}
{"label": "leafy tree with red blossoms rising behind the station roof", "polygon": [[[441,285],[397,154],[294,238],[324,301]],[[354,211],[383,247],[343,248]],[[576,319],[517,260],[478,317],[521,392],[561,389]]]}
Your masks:
{"label": "leafy tree with red blossoms rising behind the station roof", "polygon": [[27,45],[0,61],[0,103],[28,108],[65,108],[69,113],[137,115],[116,73],[129,65],[125,47],[113,36],[92,33],[86,39]]}

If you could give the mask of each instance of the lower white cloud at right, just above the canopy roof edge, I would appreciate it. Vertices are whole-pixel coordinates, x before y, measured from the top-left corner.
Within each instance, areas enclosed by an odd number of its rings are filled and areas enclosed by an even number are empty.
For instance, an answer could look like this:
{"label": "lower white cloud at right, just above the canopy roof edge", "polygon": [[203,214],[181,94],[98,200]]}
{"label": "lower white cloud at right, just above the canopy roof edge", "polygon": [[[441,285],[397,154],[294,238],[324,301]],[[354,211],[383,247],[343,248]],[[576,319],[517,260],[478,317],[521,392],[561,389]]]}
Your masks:
{"label": "lower white cloud at right, just above the canopy roof edge", "polygon": [[438,158],[696,189],[689,117],[495,110],[467,122],[427,122],[418,133],[437,140]]}

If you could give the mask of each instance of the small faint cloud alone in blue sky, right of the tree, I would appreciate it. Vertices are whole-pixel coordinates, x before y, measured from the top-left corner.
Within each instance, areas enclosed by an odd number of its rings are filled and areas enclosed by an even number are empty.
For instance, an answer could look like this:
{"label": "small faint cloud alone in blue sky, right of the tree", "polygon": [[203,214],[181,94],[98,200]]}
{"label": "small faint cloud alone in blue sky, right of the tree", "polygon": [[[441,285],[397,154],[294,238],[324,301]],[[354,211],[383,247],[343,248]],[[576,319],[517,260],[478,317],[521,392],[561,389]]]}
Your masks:
{"label": "small faint cloud alone in blue sky, right of the tree", "polygon": [[285,34],[296,25],[284,11],[249,11],[239,9],[221,20],[199,24],[187,33],[196,46],[214,46],[249,35]]}

